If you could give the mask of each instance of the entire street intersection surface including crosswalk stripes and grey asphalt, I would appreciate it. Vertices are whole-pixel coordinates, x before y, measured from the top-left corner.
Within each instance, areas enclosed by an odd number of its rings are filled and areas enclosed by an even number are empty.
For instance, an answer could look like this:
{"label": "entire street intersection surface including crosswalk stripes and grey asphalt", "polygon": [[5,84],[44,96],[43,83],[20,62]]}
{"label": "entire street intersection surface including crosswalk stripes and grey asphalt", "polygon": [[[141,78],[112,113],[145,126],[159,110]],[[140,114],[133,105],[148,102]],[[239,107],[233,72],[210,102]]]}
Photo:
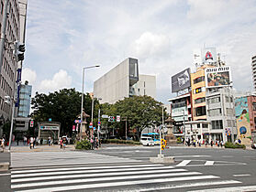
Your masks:
{"label": "entire street intersection surface including crosswalk stripes and grey asphalt", "polygon": [[175,163],[152,164],[159,147],[106,144],[92,151],[11,154],[12,191],[251,191],[256,151],[173,146]]}

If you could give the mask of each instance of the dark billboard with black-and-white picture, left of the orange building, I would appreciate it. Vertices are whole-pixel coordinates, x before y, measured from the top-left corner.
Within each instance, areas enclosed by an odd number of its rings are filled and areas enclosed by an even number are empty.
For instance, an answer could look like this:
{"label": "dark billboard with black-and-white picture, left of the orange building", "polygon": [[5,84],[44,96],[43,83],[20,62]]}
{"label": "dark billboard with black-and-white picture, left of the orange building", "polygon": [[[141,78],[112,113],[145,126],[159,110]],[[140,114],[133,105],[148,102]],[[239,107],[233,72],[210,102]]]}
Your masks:
{"label": "dark billboard with black-and-white picture, left of the orange building", "polygon": [[172,77],[172,92],[182,91],[189,88],[190,85],[190,68],[184,69]]}

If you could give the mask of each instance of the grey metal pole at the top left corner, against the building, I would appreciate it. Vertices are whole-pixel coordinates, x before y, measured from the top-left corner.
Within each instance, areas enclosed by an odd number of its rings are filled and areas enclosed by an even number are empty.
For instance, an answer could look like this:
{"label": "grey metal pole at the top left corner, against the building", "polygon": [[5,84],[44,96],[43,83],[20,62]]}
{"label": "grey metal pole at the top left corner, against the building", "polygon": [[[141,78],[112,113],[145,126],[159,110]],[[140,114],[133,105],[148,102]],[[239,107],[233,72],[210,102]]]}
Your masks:
{"label": "grey metal pole at the top left corner, against the building", "polygon": [[0,75],[1,75],[1,69],[3,66],[3,52],[5,48],[5,41],[6,41],[7,5],[8,5],[8,0],[5,0],[4,10],[3,10],[3,22],[2,22],[2,28],[1,28],[1,37],[0,37]]}

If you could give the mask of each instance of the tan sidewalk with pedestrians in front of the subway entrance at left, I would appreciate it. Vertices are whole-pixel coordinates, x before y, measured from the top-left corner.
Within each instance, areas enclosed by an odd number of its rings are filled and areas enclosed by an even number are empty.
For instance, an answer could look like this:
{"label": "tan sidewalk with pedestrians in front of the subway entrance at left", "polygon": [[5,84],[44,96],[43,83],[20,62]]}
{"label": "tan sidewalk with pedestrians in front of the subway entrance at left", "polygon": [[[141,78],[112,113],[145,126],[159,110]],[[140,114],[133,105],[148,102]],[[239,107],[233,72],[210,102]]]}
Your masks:
{"label": "tan sidewalk with pedestrians in front of the subway entrance at left", "polygon": [[74,151],[74,145],[68,144],[65,149],[61,149],[60,145],[36,145],[35,148],[30,149],[29,146],[12,146],[11,153],[28,153],[28,152],[59,152],[59,151]]}

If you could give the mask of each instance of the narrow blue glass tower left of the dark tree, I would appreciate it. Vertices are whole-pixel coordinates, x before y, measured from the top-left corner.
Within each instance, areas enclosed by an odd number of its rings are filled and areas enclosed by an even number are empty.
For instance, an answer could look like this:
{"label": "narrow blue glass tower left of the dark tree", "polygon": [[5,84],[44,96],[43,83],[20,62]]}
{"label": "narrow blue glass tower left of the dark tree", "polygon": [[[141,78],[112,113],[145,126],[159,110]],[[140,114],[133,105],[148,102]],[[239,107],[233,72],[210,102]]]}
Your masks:
{"label": "narrow blue glass tower left of the dark tree", "polygon": [[31,91],[32,86],[28,85],[28,81],[25,81],[25,84],[21,84],[17,116],[28,117],[30,111]]}

